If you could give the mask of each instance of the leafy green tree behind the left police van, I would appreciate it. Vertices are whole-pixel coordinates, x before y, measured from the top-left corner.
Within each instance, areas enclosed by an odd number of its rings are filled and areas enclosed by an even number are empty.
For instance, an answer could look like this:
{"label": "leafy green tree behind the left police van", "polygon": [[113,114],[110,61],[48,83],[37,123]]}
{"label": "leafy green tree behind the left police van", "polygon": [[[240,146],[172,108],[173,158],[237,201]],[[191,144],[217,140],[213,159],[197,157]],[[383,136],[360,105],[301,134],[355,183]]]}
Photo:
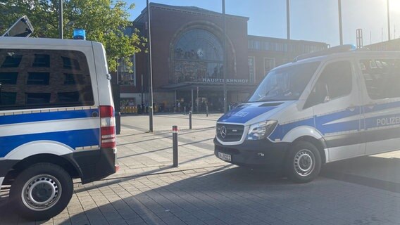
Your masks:
{"label": "leafy green tree behind the left police van", "polygon": [[[58,38],[58,4],[59,0],[0,0],[0,33],[27,15],[35,29],[32,37]],[[104,44],[110,71],[116,71],[120,58],[132,66],[130,56],[146,44],[138,30],[131,36],[123,32],[132,27],[128,11],[134,7],[120,0],[63,0],[64,37],[72,38],[74,28],[85,29],[87,40]]]}

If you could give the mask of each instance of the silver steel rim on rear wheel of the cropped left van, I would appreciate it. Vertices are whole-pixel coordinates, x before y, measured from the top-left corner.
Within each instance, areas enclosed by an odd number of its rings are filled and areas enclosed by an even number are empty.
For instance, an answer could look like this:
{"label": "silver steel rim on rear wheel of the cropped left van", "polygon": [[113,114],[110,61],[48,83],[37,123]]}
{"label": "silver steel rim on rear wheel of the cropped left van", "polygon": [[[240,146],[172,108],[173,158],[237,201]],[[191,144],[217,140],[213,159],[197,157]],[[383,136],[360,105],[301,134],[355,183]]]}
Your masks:
{"label": "silver steel rim on rear wheel of the cropped left van", "polygon": [[47,210],[60,200],[61,184],[54,176],[37,175],[25,183],[21,195],[24,205],[30,210]]}

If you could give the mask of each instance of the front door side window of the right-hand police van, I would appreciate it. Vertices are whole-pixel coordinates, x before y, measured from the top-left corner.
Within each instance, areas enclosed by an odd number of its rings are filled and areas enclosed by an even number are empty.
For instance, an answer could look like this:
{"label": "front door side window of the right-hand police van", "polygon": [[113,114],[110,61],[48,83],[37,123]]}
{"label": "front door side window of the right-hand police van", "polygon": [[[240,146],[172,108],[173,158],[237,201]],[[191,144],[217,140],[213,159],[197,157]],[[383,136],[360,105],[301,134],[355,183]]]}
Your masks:
{"label": "front door side window of the right-hand police van", "polygon": [[351,75],[351,63],[349,61],[328,64],[314,84],[304,108],[350,94]]}

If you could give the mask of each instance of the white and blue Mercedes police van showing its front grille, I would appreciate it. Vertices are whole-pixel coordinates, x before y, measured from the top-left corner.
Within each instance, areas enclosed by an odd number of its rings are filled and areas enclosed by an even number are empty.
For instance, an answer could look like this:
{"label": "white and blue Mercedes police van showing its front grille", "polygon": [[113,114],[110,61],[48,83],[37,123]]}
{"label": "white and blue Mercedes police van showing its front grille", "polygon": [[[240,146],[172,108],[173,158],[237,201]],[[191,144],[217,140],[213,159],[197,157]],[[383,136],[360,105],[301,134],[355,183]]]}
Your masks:
{"label": "white and blue Mercedes police van showing its front grille", "polygon": [[215,155],[315,179],[321,165],[400,149],[400,52],[337,46],[271,70],[216,124]]}

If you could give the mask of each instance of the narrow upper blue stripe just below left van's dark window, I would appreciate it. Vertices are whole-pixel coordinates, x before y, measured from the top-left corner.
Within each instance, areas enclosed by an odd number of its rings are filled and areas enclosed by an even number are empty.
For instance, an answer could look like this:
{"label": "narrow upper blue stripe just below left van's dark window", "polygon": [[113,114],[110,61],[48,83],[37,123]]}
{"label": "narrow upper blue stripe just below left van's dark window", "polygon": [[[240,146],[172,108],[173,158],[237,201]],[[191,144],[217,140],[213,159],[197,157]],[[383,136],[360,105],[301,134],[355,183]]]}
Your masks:
{"label": "narrow upper blue stripe just below left van's dark window", "polygon": [[58,112],[46,113],[30,113],[19,115],[3,115],[0,116],[0,125],[18,124],[22,122],[40,122],[47,120],[66,120],[92,117],[93,112],[99,112],[97,109],[92,110],[64,110]]}

